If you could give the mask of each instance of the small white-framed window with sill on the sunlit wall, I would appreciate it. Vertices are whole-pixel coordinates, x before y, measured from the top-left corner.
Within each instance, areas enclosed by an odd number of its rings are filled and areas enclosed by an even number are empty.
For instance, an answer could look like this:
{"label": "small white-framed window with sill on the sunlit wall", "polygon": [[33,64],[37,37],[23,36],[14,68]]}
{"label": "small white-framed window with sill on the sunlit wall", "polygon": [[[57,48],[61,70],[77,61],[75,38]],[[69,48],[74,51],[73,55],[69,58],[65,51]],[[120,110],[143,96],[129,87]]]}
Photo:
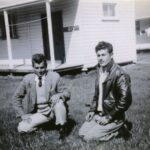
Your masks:
{"label": "small white-framed window with sill on the sunlit wall", "polygon": [[102,20],[118,20],[118,4],[115,2],[103,2],[102,15]]}

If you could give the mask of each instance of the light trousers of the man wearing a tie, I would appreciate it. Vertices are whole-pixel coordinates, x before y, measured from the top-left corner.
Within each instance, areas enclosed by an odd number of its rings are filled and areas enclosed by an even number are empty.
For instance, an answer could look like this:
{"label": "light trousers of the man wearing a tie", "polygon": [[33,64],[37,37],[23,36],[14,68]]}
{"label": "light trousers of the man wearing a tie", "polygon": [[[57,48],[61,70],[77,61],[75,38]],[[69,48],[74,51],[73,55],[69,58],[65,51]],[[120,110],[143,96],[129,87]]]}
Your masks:
{"label": "light trousers of the man wearing a tie", "polygon": [[[59,101],[53,107],[54,116],[56,118],[55,124],[63,125],[66,122],[66,107],[63,101]],[[27,114],[26,118],[18,124],[18,132],[32,132],[43,123],[49,122],[52,118],[47,117],[40,113]]]}

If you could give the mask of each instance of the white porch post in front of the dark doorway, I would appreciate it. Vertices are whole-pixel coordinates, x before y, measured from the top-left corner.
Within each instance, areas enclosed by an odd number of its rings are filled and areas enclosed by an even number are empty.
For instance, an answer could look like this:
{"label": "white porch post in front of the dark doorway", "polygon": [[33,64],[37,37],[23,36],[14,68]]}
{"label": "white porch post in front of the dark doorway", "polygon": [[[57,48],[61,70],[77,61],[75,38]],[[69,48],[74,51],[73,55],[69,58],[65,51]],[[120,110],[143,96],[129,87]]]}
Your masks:
{"label": "white porch post in front of the dark doorway", "polygon": [[48,0],[46,0],[46,13],[47,13],[48,37],[51,55],[51,69],[55,69],[55,53],[54,53],[54,41],[52,32],[51,6]]}

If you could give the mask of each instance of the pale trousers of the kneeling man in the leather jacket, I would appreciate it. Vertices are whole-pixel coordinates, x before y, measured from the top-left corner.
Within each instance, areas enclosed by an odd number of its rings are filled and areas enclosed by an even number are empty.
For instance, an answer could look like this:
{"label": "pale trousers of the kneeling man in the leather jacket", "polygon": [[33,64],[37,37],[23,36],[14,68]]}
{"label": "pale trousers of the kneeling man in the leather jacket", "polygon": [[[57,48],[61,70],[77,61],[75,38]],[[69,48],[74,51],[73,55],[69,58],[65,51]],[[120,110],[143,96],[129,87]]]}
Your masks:
{"label": "pale trousers of the kneeling man in the leather jacket", "polygon": [[[85,121],[79,129],[79,136],[84,140],[108,141],[118,135],[118,130],[122,127],[123,121],[114,121],[106,125],[100,125],[95,121],[97,115],[91,121]],[[99,116],[100,117],[100,116]]]}

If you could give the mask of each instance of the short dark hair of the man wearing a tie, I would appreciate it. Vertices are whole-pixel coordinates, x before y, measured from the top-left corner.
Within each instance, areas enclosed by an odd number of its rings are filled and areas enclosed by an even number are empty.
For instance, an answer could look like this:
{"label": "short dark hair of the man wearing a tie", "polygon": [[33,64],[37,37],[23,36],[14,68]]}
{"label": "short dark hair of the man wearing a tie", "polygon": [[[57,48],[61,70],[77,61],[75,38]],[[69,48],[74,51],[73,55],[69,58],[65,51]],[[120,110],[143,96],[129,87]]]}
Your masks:
{"label": "short dark hair of the man wearing a tie", "polygon": [[43,54],[37,53],[32,55],[32,66],[34,67],[34,64],[40,64],[41,62],[44,62],[45,67],[47,67],[47,61]]}

